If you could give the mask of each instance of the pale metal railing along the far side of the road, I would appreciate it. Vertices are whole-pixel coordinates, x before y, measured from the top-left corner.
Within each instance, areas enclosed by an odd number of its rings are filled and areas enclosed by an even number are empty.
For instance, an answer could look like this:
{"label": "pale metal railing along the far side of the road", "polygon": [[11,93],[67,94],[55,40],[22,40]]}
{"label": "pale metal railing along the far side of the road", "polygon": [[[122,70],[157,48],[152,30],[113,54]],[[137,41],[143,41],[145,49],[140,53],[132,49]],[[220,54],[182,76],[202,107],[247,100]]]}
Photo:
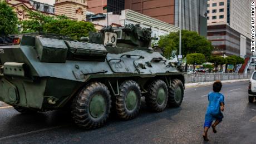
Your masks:
{"label": "pale metal railing along the far side of the road", "polygon": [[250,78],[251,73],[196,73],[185,74],[185,83],[213,82],[216,80],[240,80]]}

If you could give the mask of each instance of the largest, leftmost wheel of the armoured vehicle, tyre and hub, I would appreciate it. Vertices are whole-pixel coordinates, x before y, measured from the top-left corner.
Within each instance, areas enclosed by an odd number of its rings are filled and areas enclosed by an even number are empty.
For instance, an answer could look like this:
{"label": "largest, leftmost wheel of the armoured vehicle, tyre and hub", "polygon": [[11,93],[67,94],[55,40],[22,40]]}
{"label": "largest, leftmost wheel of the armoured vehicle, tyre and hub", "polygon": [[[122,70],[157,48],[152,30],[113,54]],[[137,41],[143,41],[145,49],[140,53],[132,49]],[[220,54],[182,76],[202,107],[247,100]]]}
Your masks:
{"label": "largest, leftmost wheel of the armoured vehicle, tyre and hub", "polygon": [[105,124],[111,108],[111,96],[107,87],[92,82],[83,88],[72,103],[73,120],[78,126],[91,129]]}

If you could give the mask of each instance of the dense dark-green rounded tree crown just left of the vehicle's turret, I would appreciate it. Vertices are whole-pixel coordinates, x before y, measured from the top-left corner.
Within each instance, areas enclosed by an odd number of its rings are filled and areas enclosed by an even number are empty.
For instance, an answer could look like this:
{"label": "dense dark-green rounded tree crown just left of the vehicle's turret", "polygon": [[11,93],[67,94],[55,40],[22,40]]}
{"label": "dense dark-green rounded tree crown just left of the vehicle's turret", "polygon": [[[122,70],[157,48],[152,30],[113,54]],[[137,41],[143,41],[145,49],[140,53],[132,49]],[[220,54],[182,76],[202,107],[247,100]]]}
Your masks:
{"label": "dense dark-green rounded tree crown just left of the vehicle's turret", "polygon": [[69,36],[73,39],[88,36],[89,32],[95,32],[93,24],[90,22],[77,22],[70,19],[61,19],[58,21],[51,21],[43,26],[43,30],[47,33],[61,34]]}

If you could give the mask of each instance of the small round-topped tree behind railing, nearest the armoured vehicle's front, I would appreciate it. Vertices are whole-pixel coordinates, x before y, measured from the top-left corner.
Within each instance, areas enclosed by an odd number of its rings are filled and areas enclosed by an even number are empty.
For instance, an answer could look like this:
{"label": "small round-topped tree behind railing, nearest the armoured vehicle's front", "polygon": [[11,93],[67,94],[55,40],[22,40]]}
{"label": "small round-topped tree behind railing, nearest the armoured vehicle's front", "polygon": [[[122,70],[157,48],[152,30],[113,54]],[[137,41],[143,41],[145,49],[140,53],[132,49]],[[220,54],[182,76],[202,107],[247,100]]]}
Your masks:
{"label": "small round-topped tree behind railing, nearest the armoured vehicle's front", "polygon": [[190,53],[186,55],[186,62],[188,64],[193,64],[193,69],[195,71],[196,64],[203,64],[205,62],[205,56],[201,53]]}

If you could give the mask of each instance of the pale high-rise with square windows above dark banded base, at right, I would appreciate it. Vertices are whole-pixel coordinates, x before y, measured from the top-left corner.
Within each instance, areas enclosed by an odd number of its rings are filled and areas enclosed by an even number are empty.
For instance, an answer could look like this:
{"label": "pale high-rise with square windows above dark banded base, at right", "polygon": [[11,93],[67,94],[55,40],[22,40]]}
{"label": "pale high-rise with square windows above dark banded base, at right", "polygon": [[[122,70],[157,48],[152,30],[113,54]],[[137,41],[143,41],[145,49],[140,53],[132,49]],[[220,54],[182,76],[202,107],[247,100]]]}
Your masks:
{"label": "pale high-rise with square windows above dark banded base, at right", "polygon": [[208,39],[213,54],[250,55],[250,0],[209,0]]}

